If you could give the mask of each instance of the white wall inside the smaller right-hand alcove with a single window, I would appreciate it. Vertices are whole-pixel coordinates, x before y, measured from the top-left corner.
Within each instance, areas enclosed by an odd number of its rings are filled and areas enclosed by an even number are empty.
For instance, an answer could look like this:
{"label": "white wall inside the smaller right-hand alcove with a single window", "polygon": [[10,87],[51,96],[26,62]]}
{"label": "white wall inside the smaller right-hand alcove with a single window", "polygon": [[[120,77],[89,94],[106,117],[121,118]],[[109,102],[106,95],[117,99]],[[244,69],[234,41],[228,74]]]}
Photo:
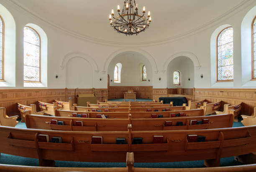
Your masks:
{"label": "white wall inside the smaller right-hand alcove with a single window", "polygon": [[[173,72],[175,70],[180,72],[181,85],[173,85]],[[190,81],[188,78],[190,78]],[[194,64],[188,57],[176,57],[167,67],[167,88],[177,87],[194,87]]]}

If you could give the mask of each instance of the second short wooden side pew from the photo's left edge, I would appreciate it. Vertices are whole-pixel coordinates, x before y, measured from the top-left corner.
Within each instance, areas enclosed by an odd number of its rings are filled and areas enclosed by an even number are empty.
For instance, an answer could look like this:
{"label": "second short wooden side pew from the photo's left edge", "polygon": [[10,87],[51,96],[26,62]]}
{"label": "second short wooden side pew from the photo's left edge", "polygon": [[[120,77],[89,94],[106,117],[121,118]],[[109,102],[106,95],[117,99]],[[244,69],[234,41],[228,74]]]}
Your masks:
{"label": "second short wooden side pew from the photo's left edge", "polygon": [[34,104],[26,106],[18,103],[18,110],[20,112],[21,122],[25,122],[25,117],[27,114],[44,115],[44,111],[36,112],[36,105]]}

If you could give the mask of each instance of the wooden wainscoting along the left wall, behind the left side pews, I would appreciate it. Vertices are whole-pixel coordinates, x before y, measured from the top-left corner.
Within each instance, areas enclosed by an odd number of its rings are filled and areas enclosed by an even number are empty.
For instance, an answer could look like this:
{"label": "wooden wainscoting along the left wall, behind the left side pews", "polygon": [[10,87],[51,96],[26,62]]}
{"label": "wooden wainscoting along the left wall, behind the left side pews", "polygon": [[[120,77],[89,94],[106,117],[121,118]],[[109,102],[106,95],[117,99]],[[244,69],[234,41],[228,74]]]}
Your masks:
{"label": "wooden wainscoting along the left wall, behind the left side pews", "polygon": [[10,89],[0,90],[0,107],[5,107],[7,114],[12,116],[19,114],[17,103],[38,105],[37,101],[52,103],[54,100],[77,103],[77,95],[87,93],[95,93],[100,101],[108,98],[108,89]]}

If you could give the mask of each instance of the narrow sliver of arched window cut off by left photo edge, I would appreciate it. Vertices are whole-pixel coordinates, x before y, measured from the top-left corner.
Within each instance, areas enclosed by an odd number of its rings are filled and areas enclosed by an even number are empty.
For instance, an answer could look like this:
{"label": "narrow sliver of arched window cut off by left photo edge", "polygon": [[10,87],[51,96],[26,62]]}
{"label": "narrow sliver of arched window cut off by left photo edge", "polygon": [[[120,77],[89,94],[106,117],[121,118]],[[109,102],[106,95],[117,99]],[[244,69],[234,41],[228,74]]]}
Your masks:
{"label": "narrow sliver of arched window cut off by left photo edge", "polygon": [[0,16],[0,80],[4,80],[4,22]]}

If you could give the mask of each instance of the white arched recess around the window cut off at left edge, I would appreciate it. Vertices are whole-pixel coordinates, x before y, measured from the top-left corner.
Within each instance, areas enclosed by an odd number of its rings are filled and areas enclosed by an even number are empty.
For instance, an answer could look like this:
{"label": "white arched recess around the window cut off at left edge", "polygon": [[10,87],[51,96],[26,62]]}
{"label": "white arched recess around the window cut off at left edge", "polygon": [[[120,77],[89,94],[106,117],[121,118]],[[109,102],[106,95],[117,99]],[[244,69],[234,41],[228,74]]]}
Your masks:
{"label": "white arched recess around the window cut off at left edge", "polygon": [[16,25],[13,15],[0,4],[4,22],[4,81],[0,87],[15,87],[16,77]]}

